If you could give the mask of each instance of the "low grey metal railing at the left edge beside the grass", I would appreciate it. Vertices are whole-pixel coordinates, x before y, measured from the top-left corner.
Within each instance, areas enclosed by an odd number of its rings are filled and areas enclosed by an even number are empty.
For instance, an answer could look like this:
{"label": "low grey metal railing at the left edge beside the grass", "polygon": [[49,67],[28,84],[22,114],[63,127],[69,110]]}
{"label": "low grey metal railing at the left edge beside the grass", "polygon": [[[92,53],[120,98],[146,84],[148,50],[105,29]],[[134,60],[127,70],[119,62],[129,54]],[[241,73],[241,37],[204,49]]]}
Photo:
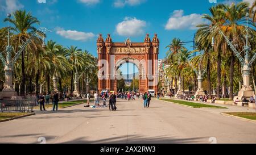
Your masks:
{"label": "low grey metal railing at the left edge beside the grass", "polygon": [[1,112],[32,112],[36,99],[0,100]]}

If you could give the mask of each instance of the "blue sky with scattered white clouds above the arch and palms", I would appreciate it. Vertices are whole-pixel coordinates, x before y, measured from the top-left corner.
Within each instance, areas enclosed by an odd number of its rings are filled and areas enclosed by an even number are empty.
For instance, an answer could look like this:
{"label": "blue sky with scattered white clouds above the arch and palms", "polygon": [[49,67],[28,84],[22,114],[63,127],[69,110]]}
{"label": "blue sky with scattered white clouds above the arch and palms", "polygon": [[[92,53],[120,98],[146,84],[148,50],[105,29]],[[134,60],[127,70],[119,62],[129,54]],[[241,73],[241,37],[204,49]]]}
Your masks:
{"label": "blue sky with scattered white clouds above the arch and palms", "polygon": [[[220,2],[223,1],[217,1]],[[233,1],[225,1],[230,2]],[[209,0],[0,0],[0,27],[7,25],[2,22],[7,12],[25,9],[40,20],[41,25],[36,27],[53,31],[47,33],[47,40],[64,47],[75,45],[94,56],[99,33],[104,39],[110,33],[116,42],[128,37],[133,42],[142,42],[146,33],[151,39],[158,33],[159,58],[164,58],[165,47],[174,37],[183,41],[193,39],[196,24],[204,22],[201,14],[209,13],[213,5],[216,4]],[[188,48],[191,46],[187,44]]]}

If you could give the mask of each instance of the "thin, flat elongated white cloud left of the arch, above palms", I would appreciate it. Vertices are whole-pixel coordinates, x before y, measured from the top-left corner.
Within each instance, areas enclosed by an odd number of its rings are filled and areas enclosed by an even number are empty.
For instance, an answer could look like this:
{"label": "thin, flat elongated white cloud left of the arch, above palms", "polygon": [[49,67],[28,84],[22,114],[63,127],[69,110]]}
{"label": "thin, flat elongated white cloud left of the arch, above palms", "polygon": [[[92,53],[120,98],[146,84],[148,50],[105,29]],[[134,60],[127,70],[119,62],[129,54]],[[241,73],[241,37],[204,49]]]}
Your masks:
{"label": "thin, flat elongated white cloud left of the arch, above palms", "polygon": [[66,39],[77,40],[77,41],[88,41],[93,39],[95,35],[92,32],[79,32],[75,30],[64,30],[64,28],[57,27],[56,33]]}

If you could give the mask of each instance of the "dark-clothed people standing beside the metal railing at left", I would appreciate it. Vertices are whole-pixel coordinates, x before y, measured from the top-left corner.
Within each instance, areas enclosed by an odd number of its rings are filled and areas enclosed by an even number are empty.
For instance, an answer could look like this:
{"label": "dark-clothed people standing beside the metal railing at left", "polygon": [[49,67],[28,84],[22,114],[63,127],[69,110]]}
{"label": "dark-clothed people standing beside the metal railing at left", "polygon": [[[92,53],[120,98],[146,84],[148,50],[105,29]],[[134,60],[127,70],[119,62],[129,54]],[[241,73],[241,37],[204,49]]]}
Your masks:
{"label": "dark-clothed people standing beside the metal railing at left", "polygon": [[[42,93],[40,93],[40,95],[36,95],[36,103],[40,104],[40,111],[46,111],[46,107],[44,106],[44,103],[46,102],[46,104],[49,104],[49,99],[50,99],[50,95],[47,94],[46,96],[44,96]],[[59,103],[59,93],[55,92],[53,94],[53,108],[52,111],[56,111],[58,110],[58,103]]]}

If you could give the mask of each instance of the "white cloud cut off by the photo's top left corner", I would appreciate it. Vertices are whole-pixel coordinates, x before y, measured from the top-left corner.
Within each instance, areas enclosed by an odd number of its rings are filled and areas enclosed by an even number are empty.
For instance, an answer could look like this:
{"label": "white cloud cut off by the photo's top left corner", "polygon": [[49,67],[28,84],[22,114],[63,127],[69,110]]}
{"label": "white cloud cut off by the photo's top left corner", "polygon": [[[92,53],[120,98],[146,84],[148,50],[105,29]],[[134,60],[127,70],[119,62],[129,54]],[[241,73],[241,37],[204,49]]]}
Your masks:
{"label": "white cloud cut off by the photo's top left corner", "polygon": [[24,6],[18,0],[1,0],[0,10],[6,13],[12,13],[16,10],[23,9]]}

